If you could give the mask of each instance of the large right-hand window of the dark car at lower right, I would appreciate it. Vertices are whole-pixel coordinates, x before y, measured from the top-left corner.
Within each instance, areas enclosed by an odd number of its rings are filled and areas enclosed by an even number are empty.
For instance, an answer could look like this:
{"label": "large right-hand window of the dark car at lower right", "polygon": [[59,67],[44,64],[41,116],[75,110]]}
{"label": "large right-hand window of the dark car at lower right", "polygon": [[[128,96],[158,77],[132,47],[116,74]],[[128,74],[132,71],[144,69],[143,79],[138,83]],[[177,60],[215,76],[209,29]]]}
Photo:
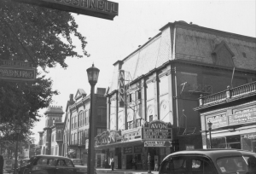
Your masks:
{"label": "large right-hand window of the dark car at lower right", "polygon": [[218,159],[217,165],[222,173],[236,173],[238,171],[248,171],[247,162],[241,156]]}

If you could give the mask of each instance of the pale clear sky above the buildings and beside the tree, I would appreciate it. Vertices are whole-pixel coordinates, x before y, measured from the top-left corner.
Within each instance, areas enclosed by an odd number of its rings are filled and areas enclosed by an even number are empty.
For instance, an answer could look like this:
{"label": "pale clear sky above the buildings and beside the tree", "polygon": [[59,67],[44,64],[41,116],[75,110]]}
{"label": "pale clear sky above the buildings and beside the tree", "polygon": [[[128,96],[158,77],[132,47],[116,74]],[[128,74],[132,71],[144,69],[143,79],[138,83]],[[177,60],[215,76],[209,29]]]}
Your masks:
{"label": "pale clear sky above the buildings and beside the tree", "polygon": [[[76,95],[78,89],[90,94],[86,69],[94,63],[100,69],[97,87],[108,88],[113,63],[123,60],[160,32],[168,22],[183,20],[224,32],[232,32],[256,38],[255,0],[111,0],[119,3],[119,15],[113,20],[104,20],[83,14],[73,14],[79,32],[88,42],[86,50],[90,57],[67,57],[67,69],[60,66],[49,69],[47,77],[53,80],[53,89],[60,95],[54,96],[54,106],[66,110],[69,95]],[[73,40],[77,51],[82,54],[78,39]],[[44,115],[46,108],[39,111]],[[63,114],[64,119],[65,114]],[[32,130],[38,143],[38,131],[43,131],[42,117]]]}

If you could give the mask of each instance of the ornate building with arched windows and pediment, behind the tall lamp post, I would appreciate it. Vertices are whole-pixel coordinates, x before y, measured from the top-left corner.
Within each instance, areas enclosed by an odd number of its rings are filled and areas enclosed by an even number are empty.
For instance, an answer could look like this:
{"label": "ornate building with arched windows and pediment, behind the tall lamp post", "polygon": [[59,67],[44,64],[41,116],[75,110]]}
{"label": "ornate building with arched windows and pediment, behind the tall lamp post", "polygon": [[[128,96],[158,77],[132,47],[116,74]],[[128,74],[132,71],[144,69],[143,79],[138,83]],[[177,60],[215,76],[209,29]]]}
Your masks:
{"label": "ornate building with arched windows and pediment, behind the tall lamp post", "polygon": [[[97,88],[95,97],[96,119],[94,129],[97,134],[107,130],[107,108],[105,88]],[[88,138],[89,138],[90,95],[83,89],[77,90],[76,95],[70,95],[67,101],[64,119],[64,136],[62,155],[72,159],[82,159],[87,164]],[[96,166],[103,165],[104,154],[96,152]]]}

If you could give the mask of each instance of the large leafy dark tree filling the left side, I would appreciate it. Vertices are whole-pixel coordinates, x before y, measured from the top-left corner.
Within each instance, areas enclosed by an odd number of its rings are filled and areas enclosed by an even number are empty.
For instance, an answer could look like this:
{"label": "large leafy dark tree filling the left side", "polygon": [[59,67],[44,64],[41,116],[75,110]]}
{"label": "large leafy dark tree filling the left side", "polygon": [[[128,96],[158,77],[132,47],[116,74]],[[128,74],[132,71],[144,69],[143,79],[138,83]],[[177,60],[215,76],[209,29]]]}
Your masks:
{"label": "large leafy dark tree filling the left side", "polygon": [[[0,1],[0,59],[31,61],[47,73],[47,67],[60,64],[67,68],[67,57],[89,56],[87,42],[78,32],[78,25],[70,13],[46,9],[10,0]],[[83,54],[74,49],[73,37],[79,38]],[[8,82],[0,79],[0,124],[2,131],[26,123],[25,135],[38,121],[38,109],[48,107],[52,96],[52,80],[37,73],[34,82]],[[1,75],[1,74],[0,74]],[[1,128],[0,128],[1,129]],[[10,131],[9,131],[10,132]],[[5,132],[6,137],[11,133]]]}

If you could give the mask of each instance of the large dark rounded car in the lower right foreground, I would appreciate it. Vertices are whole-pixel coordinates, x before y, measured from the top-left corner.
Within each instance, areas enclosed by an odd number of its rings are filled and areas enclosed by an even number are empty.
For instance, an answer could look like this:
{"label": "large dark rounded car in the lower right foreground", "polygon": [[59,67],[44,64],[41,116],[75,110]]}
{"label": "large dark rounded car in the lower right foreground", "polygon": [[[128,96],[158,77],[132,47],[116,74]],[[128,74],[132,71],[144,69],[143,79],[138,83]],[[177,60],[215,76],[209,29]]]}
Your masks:
{"label": "large dark rounded car in the lower right foreground", "polygon": [[256,174],[256,154],[238,149],[186,150],[169,154],[159,174]]}

